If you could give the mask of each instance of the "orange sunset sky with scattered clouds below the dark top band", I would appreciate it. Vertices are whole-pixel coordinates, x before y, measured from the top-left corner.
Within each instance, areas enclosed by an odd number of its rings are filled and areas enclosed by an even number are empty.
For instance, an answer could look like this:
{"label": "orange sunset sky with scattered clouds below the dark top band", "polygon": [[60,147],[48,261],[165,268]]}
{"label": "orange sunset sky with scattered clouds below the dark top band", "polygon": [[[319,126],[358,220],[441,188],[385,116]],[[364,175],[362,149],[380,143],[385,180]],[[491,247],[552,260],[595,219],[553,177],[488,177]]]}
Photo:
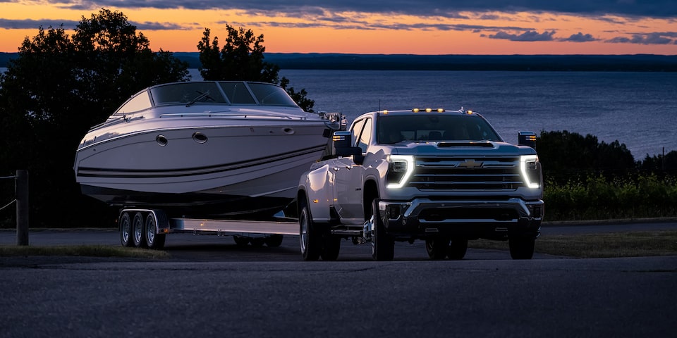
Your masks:
{"label": "orange sunset sky with scattered clouds below the dark top band", "polygon": [[[116,10],[116,8],[110,8]],[[46,23],[67,23],[97,10],[49,4],[0,3],[0,51],[16,51]],[[670,18],[621,18],[556,13],[456,15],[374,14],[320,11],[315,15],[120,8],[154,50],[197,51],[205,27],[224,35],[226,23],[264,35],[269,52],[358,54],[677,54]],[[54,24],[56,25],[56,24]],[[32,26],[32,27],[31,27]]]}

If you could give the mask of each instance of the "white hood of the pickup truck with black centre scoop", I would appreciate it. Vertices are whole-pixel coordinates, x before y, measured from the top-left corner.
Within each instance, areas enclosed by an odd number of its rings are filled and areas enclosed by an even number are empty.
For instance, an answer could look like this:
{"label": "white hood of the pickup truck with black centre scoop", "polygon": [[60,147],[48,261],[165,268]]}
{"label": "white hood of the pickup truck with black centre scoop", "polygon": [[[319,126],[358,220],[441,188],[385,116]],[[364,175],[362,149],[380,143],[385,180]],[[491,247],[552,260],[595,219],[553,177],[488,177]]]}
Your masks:
{"label": "white hood of the pickup truck with black centre scoop", "polygon": [[394,155],[413,156],[520,156],[535,155],[530,146],[493,141],[401,142],[392,145]]}

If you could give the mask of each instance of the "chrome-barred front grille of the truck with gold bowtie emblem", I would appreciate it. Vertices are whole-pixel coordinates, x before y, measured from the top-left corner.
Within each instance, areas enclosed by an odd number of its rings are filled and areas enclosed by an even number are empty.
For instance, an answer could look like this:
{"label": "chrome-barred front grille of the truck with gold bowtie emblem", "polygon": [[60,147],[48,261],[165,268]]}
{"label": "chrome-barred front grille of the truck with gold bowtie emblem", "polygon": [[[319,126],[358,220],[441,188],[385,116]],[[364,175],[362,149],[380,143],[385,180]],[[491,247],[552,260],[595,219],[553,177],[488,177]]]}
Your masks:
{"label": "chrome-barred front grille of the truck with gold bowtie emblem", "polygon": [[524,185],[519,157],[416,157],[410,187],[510,191]]}

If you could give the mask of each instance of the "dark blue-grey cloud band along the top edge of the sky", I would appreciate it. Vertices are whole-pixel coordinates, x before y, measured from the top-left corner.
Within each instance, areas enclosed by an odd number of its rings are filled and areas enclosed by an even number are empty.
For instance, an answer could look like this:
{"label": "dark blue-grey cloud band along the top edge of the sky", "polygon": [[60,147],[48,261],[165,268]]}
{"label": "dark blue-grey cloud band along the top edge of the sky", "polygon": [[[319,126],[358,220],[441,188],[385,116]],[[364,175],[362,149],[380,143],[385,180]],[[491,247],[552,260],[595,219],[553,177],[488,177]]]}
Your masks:
{"label": "dark blue-grey cloud band along the top edge of the sky", "polygon": [[49,0],[52,4],[76,9],[92,10],[102,7],[119,8],[188,8],[188,9],[241,9],[247,11],[272,11],[276,14],[309,13],[322,8],[331,12],[399,13],[423,16],[457,15],[461,11],[535,13],[571,13],[575,15],[618,15],[627,17],[676,18],[675,0]]}

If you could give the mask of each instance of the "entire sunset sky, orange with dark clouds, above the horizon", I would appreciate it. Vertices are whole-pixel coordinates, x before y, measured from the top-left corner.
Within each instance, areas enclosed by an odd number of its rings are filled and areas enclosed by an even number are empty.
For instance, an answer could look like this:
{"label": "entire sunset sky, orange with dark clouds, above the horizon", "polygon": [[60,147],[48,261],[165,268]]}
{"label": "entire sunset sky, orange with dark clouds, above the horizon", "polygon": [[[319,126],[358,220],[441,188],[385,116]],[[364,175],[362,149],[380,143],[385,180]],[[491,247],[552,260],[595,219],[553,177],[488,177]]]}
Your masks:
{"label": "entire sunset sky, orange with dark clouds, above the horizon", "polygon": [[197,51],[228,24],[273,53],[677,54],[677,0],[0,0],[0,51],[100,8],[156,51]]}

